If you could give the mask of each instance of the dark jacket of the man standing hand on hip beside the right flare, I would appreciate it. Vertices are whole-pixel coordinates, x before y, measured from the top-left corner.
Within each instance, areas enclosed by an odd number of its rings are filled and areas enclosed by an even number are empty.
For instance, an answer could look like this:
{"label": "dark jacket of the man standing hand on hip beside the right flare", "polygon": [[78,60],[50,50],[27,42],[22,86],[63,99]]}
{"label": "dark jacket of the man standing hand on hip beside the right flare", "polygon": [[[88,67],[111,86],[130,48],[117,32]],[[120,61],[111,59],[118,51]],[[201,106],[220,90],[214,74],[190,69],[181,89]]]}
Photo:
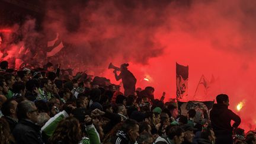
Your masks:
{"label": "dark jacket of the man standing hand on hip beside the right flare", "polygon": [[[238,127],[241,119],[233,111],[228,109],[225,104],[214,104],[210,111],[213,131],[218,135],[232,135],[233,127]],[[231,126],[231,120],[235,121]]]}

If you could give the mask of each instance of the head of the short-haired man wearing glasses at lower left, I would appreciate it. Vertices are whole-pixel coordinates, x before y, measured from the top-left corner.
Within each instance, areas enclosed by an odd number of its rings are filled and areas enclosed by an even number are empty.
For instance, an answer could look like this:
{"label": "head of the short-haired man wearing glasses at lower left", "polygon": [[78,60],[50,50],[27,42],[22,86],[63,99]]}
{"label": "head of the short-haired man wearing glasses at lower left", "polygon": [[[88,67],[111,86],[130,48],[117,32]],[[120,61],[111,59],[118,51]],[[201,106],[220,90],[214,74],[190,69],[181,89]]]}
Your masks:
{"label": "head of the short-haired man wearing glasses at lower left", "polygon": [[37,107],[32,101],[24,100],[17,105],[17,116],[18,119],[28,119],[37,123]]}

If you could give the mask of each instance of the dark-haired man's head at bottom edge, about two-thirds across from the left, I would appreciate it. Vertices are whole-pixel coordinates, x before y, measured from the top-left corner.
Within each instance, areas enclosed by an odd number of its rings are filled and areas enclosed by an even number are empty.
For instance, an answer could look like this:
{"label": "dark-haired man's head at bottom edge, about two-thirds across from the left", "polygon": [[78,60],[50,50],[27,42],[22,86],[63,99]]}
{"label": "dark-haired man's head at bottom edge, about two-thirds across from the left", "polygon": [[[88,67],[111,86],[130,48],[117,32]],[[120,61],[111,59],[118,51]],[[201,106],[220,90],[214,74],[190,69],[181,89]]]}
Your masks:
{"label": "dark-haired man's head at bottom edge, about two-thirds across from the left", "polygon": [[181,144],[184,141],[184,130],[178,126],[167,126],[166,130],[169,139],[175,144]]}

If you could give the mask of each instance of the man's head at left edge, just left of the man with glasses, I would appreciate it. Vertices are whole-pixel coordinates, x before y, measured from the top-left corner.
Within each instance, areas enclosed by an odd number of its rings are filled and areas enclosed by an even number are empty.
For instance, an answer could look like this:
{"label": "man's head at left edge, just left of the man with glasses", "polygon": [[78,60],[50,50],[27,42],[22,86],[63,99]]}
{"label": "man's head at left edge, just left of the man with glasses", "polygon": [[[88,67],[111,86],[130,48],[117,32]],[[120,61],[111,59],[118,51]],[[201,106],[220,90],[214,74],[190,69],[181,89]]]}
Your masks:
{"label": "man's head at left edge, just left of the man with glasses", "polygon": [[4,104],[2,104],[1,111],[4,114],[4,116],[14,117],[17,118],[17,101],[9,99],[5,101]]}

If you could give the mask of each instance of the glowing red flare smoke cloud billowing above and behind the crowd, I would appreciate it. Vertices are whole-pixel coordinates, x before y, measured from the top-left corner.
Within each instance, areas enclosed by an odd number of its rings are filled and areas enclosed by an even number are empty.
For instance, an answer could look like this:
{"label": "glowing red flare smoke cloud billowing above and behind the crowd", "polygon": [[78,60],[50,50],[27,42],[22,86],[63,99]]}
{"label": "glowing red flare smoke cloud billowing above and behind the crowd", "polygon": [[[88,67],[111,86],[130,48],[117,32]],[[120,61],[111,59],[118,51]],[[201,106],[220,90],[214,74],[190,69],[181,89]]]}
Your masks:
{"label": "glowing red flare smoke cloud billowing above and behind the crowd", "polygon": [[[167,99],[175,98],[175,62],[189,66],[189,97],[185,100],[194,100],[201,75],[209,80],[215,76],[213,94],[228,94],[229,108],[236,111],[236,105],[245,101],[239,115],[241,127],[249,130],[256,123],[252,117],[256,114],[255,6],[255,1],[242,0],[88,1],[66,11],[75,15],[72,18],[63,15],[65,5],[56,11],[51,8],[48,14],[59,20],[47,25],[80,47],[87,65],[105,69],[110,62],[116,66],[129,62],[137,87],[155,87],[158,98],[163,91]],[[112,70],[101,75],[119,84]],[[149,81],[144,80],[147,76]]]}

